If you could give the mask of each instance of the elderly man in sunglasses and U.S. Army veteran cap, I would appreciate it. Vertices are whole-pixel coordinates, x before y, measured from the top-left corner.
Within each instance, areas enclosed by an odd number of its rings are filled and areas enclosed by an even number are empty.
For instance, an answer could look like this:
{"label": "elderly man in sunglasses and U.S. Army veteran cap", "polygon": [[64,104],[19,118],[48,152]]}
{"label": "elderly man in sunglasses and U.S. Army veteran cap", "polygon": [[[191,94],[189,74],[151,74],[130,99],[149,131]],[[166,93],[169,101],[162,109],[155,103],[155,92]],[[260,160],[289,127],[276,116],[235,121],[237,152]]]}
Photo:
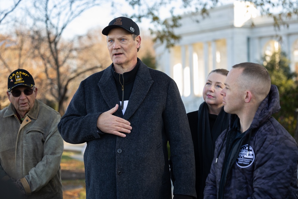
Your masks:
{"label": "elderly man in sunglasses and U.S. Army veteran cap", "polygon": [[7,86],[11,103],[0,111],[0,179],[20,198],[63,198],[60,114],[36,100],[37,87],[27,70],[13,71]]}

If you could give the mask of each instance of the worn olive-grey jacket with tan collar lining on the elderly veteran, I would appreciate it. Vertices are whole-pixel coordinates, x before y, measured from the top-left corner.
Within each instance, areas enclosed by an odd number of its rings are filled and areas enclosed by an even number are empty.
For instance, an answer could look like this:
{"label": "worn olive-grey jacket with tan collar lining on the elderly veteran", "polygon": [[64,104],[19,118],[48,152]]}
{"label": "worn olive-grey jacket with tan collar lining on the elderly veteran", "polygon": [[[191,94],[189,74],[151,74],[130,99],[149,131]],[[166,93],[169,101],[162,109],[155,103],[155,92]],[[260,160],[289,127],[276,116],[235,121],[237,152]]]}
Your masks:
{"label": "worn olive-grey jacket with tan collar lining on the elderly veteran", "polygon": [[0,179],[20,179],[27,198],[62,198],[60,114],[35,100],[22,124],[13,104],[0,111]]}

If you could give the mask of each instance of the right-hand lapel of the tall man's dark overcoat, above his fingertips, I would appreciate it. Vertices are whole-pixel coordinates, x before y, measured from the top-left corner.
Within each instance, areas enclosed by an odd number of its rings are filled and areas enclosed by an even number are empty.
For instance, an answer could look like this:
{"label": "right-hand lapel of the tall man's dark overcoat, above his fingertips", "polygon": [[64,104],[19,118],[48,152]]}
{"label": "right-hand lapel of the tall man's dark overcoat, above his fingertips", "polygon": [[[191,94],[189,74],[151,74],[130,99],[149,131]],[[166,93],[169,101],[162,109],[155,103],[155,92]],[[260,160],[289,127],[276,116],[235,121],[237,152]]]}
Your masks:
{"label": "right-hand lapel of the tall man's dark overcoat, above his fingertips", "polygon": [[154,81],[151,78],[148,67],[143,64],[142,61],[140,61],[139,69],[136,73],[136,78],[134,81],[134,87],[123,116],[125,120],[128,120],[134,114],[134,112],[136,112],[139,105],[146,97],[153,82]]}

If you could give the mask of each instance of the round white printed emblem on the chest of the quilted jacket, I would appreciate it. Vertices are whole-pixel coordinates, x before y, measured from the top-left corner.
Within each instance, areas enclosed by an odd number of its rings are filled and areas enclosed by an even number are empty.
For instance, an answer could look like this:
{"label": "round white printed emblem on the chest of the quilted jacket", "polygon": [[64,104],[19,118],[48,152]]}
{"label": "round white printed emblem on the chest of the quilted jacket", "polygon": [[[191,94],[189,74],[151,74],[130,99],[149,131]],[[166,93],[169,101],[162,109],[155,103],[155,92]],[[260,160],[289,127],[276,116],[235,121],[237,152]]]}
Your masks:
{"label": "round white printed emblem on the chest of the quilted jacket", "polygon": [[254,150],[248,144],[241,146],[238,158],[236,159],[236,164],[241,168],[246,168],[252,165],[254,162]]}

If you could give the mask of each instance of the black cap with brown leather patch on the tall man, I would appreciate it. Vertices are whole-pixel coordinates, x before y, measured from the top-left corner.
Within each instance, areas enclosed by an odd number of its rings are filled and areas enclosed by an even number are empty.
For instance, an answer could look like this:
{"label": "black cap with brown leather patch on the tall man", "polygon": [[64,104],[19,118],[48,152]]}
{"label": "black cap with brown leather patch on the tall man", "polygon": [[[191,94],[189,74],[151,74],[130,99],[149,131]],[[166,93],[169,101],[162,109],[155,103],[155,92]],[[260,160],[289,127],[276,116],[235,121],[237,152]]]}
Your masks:
{"label": "black cap with brown leather patch on the tall man", "polygon": [[114,18],[107,27],[105,27],[102,31],[103,35],[108,35],[109,31],[112,28],[124,28],[130,33],[136,34],[137,36],[140,35],[139,26],[134,22],[131,18],[127,17],[117,17]]}

